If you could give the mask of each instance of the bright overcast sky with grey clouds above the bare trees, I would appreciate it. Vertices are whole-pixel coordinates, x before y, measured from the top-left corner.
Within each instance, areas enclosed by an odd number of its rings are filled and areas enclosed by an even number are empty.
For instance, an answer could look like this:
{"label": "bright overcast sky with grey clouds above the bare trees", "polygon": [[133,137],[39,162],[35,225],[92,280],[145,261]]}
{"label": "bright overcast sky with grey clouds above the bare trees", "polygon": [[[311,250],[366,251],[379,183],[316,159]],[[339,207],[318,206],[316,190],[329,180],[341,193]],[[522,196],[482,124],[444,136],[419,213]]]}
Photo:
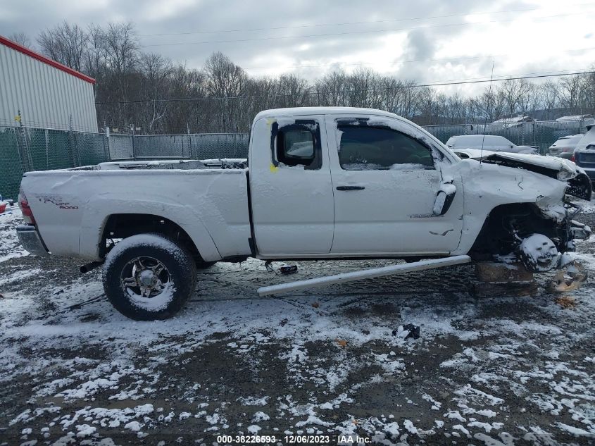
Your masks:
{"label": "bright overcast sky with grey clouds above the bare trees", "polygon": [[432,82],[489,78],[492,62],[495,76],[589,68],[594,12],[584,0],[30,0],[0,3],[0,33],[35,42],[61,20],[131,20],[144,51],[188,67],[223,51],[251,75],[365,66]]}

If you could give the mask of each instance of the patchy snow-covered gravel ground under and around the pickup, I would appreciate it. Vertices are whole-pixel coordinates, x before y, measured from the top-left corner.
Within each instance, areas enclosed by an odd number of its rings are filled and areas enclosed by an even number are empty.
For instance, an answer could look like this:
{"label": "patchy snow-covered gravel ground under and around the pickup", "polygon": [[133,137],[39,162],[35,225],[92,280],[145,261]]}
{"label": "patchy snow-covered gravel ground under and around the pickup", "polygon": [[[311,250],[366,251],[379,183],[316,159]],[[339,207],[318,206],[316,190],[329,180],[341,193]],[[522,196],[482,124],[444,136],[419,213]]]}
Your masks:
{"label": "patchy snow-covered gravel ground under and around the pickup", "polygon": [[[261,298],[262,285],[386,262],[300,262],[288,278],[251,260],[203,271],[175,318],[135,322],[106,301],[101,271],[25,256],[12,209],[0,215],[0,445],[595,443],[592,279],[562,299],[476,298],[463,266]],[[592,271],[595,241],[579,251]],[[419,339],[404,339],[408,323]]]}

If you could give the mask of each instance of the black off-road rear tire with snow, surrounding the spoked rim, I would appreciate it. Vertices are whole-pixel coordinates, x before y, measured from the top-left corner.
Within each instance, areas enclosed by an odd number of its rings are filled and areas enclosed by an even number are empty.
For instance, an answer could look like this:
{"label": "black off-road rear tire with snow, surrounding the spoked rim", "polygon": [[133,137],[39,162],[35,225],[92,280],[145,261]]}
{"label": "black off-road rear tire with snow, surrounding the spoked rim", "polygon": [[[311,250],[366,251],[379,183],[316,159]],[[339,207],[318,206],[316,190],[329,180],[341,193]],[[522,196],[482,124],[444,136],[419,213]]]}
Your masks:
{"label": "black off-road rear tire with snow, surrounding the spoked rim", "polygon": [[[163,304],[137,304],[139,297],[126,292],[122,275],[134,259],[156,259],[165,266],[171,288]],[[186,249],[159,234],[139,234],[115,244],[106,256],[104,265],[104,290],[111,304],[124,316],[136,321],[167,319],[175,315],[192,295],[196,287],[196,264]],[[156,296],[158,297],[158,296]],[[136,299],[136,302],[135,302]],[[149,302],[151,297],[141,297]],[[159,302],[159,301],[154,301]]]}

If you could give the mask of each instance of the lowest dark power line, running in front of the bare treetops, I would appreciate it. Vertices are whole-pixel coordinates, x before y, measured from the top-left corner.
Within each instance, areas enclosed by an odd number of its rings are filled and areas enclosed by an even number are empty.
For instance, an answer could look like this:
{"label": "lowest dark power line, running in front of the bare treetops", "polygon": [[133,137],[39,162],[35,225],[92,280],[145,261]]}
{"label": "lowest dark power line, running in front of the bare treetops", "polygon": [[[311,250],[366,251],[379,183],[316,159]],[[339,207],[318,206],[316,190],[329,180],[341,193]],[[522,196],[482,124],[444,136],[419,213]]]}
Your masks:
{"label": "lowest dark power line, running in front of the bare treetops", "polygon": [[[546,72],[547,73],[547,72]],[[531,74],[531,73],[529,73]],[[554,74],[534,74],[534,75],[520,75],[518,77],[508,77],[508,78],[499,78],[499,79],[483,79],[483,78],[475,78],[480,80],[461,80],[461,82],[456,81],[433,81],[427,84],[416,84],[416,85],[399,85],[399,87],[379,87],[379,88],[369,88],[369,89],[361,89],[361,90],[345,90],[346,93],[352,92],[374,92],[374,91],[382,91],[382,90],[391,90],[391,89],[401,89],[401,88],[419,88],[419,87],[441,87],[444,85],[464,85],[464,84],[480,84],[483,82],[501,82],[503,80],[521,80],[521,79],[537,79],[537,78],[556,78],[560,76],[574,76],[574,75],[587,75],[587,74],[595,74],[595,71],[580,71],[577,73],[554,73]],[[474,79],[474,78],[471,78]],[[303,92],[301,96],[311,96],[313,94],[318,94],[318,92]],[[195,98],[170,98],[170,99],[139,99],[135,101],[104,101],[104,102],[95,102],[96,105],[106,105],[106,104],[145,104],[148,102],[192,102],[192,101],[211,101],[216,99],[262,99],[262,98],[276,98],[276,97],[284,97],[284,96],[292,96],[292,94],[260,94],[255,96],[230,96],[230,97],[195,97]]]}

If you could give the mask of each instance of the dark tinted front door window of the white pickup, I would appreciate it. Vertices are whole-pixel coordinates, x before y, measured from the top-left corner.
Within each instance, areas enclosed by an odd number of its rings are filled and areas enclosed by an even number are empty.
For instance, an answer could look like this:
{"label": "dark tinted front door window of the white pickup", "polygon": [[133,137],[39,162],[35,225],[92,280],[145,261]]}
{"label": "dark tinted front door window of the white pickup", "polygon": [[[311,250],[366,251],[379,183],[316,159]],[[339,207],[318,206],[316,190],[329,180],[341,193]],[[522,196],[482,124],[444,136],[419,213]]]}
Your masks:
{"label": "dark tinted front door window of the white pickup", "polygon": [[346,171],[434,168],[430,148],[401,132],[341,123],[337,128],[339,163]]}

